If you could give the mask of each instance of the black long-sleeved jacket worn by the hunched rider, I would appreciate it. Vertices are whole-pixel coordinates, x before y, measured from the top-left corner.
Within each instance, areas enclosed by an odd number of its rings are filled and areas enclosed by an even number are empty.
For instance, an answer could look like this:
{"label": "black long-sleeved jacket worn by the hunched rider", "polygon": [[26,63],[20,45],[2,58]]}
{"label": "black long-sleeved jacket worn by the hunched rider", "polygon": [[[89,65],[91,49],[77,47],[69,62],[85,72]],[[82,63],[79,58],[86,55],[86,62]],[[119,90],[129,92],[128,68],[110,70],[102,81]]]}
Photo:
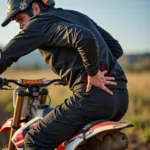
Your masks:
{"label": "black long-sleeved jacket worn by the hunched rider", "polygon": [[2,49],[0,73],[37,48],[51,69],[67,79],[71,89],[86,82],[87,75],[95,75],[98,69],[107,70],[118,83],[126,83],[116,60],[123,53],[118,41],[79,12],[52,7],[31,18]]}

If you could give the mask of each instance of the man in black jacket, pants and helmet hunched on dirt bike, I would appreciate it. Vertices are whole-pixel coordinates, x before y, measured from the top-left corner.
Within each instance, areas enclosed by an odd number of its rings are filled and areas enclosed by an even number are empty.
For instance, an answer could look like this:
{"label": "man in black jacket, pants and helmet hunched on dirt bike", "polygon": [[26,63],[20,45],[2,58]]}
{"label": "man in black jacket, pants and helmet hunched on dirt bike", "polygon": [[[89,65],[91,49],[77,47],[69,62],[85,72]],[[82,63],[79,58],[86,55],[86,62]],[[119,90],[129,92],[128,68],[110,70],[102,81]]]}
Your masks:
{"label": "man in black jacket, pants and helmet hunched on dirt bike", "polygon": [[128,108],[127,79],[117,62],[123,53],[118,41],[88,16],[54,5],[54,0],[8,0],[2,23],[15,20],[22,30],[1,50],[0,73],[38,48],[73,91],[28,132],[28,150],[53,150],[86,123],[119,121]]}

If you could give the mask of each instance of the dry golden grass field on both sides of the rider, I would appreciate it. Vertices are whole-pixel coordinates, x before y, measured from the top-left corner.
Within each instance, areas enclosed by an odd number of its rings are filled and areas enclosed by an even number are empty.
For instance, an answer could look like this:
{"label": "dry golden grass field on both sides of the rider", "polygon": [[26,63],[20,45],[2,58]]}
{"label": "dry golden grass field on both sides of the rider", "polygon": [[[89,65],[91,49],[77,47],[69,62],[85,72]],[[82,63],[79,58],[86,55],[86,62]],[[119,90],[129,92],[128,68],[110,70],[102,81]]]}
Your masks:
{"label": "dry golden grass field on both sides of the rider", "polygon": [[[8,70],[3,75],[5,78],[18,79],[37,79],[46,78],[54,79],[58,78],[50,71],[11,71]],[[127,73],[128,89],[129,89],[129,109],[122,121],[131,121],[135,124],[135,127],[128,130],[132,136],[138,138],[139,143],[150,142],[150,73]],[[49,87],[50,96],[52,98],[52,106],[56,106],[63,102],[65,98],[71,95],[71,91],[67,87],[51,86]],[[12,91],[0,91],[1,103],[5,105],[5,111],[9,111],[12,108]],[[2,118],[1,118],[2,119]],[[133,140],[134,141],[134,140]],[[134,142],[133,142],[134,143]],[[136,145],[136,144],[135,144]],[[133,148],[134,149],[134,148]],[[145,149],[148,150],[149,148]],[[137,149],[138,150],[138,149]],[[142,148],[141,148],[142,150]]]}

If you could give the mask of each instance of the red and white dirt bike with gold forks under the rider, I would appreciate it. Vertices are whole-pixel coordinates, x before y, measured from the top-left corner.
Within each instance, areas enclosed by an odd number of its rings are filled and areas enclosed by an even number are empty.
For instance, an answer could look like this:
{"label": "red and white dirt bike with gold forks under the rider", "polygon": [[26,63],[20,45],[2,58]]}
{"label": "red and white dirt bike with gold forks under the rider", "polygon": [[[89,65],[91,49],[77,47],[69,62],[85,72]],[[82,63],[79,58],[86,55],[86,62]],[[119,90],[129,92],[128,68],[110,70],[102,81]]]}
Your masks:
{"label": "red and white dirt bike with gold forks under the rider", "polygon": [[[1,127],[0,132],[10,131],[8,147],[1,150],[23,150],[26,133],[38,124],[39,120],[53,108],[46,104],[47,86],[51,84],[66,85],[64,79],[9,80],[0,78],[1,90],[13,89],[13,118]],[[129,122],[97,120],[86,124],[72,138],[64,141],[55,150],[125,150],[128,147],[127,136],[122,129],[133,127]]]}

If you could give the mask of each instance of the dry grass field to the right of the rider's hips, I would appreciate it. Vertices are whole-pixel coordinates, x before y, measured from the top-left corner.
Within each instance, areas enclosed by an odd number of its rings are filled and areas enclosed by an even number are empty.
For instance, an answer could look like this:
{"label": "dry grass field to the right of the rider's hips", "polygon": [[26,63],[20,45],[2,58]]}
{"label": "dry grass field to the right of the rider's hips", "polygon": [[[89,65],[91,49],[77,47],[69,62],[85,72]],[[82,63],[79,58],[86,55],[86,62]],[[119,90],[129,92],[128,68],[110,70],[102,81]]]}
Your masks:
{"label": "dry grass field to the right of the rider's hips", "polygon": [[135,124],[133,133],[143,142],[150,142],[150,73],[127,73],[130,104],[124,120]]}

